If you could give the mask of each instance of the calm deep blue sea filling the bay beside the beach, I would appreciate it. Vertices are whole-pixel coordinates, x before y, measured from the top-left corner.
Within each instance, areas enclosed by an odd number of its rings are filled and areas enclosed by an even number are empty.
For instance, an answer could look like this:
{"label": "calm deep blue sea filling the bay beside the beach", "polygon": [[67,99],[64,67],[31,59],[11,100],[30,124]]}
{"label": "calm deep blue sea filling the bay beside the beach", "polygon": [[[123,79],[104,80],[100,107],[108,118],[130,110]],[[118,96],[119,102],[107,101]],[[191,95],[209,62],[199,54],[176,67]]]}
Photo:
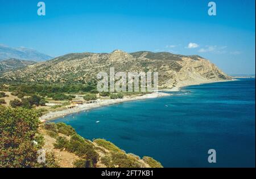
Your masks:
{"label": "calm deep blue sea filling the bay beside the beach", "polygon": [[[188,92],[189,91],[189,92]],[[100,121],[96,123],[96,121]],[[174,96],[106,106],[56,120],[164,167],[255,167],[255,79],[183,88]],[[217,163],[208,163],[208,150]]]}

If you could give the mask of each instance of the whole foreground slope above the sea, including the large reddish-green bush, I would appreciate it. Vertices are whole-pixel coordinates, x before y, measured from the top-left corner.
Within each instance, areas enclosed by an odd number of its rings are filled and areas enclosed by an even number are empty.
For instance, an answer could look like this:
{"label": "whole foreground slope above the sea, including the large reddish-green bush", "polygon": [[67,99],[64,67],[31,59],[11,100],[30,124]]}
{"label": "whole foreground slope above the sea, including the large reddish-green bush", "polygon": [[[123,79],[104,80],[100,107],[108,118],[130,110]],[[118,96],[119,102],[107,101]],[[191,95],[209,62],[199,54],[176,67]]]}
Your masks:
{"label": "whole foreground slope above the sea, including the large reddish-green bush", "polygon": [[0,105],[1,168],[162,168],[104,139],[82,138],[65,123],[42,123],[38,110]]}

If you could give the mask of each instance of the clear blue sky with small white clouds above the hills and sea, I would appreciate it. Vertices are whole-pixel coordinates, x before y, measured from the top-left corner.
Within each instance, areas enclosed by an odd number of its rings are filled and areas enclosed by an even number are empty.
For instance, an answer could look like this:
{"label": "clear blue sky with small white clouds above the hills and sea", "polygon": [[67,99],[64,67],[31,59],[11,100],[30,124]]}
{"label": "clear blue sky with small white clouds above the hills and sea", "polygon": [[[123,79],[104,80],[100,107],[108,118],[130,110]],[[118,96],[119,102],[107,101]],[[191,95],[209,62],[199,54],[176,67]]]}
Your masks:
{"label": "clear blue sky with small white clouds above the hills and sea", "polygon": [[[214,0],[213,0],[214,1]],[[228,74],[255,74],[255,1],[0,0],[0,44],[51,56],[150,50],[199,54]],[[189,45],[190,43],[190,45]]]}

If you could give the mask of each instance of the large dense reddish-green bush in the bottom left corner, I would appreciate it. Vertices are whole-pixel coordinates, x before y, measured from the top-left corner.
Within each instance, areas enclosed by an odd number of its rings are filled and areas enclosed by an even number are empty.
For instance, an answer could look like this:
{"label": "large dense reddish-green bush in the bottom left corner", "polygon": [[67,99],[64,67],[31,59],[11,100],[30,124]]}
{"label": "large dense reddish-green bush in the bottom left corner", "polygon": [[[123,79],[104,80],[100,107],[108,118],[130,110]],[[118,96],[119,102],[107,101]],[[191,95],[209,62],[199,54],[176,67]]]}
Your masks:
{"label": "large dense reddish-green bush in the bottom left corner", "polygon": [[44,139],[38,133],[38,114],[34,110],[0,110],[0,167],[58,167],[52,154],[38,163],[38,150]]}

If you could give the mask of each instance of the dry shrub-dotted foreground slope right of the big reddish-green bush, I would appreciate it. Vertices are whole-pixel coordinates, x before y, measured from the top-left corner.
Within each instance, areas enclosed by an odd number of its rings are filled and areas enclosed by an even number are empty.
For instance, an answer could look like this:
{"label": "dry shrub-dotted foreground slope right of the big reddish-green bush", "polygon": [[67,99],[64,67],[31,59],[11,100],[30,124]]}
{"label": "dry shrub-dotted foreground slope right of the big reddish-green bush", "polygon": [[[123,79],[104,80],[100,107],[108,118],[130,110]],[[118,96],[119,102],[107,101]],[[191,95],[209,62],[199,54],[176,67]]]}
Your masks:
{"label": "dry shrub-dotted foreground slope right of the big reddish-green bush", "polygon": [[[93,141],[82,138],[65,123],[44,123],[40,127],[44,135],[44,150],[55,156],[60,167],[97,168],[162,168],[152,157],[127,154],[104,139]],[[88,166],[86,166],[88,165]]]}

